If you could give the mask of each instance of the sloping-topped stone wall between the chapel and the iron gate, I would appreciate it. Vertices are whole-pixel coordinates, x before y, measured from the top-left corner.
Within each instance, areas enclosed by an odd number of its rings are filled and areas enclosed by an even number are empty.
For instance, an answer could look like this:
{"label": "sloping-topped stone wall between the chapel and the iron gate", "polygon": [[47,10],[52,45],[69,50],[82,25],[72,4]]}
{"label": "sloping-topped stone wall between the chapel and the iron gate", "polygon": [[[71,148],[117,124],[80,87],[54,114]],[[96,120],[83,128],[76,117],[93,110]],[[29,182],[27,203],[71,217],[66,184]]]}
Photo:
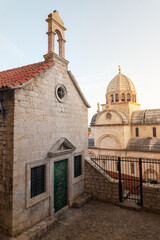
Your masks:
{"label": "sloping-topped stone wall between the chapel and the iron gate", "polygon": [[118,203],[118,181],[107,177],[91,160],[85,160],[85,192],[102,201]]}

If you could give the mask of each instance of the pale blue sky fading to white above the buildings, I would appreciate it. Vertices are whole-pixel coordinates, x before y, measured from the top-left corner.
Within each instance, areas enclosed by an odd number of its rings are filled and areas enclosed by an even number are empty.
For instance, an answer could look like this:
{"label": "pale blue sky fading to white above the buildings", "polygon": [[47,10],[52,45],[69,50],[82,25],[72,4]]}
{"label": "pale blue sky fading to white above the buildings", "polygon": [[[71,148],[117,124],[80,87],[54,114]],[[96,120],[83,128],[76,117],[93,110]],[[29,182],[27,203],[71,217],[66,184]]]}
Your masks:
{"label": "pale blue sky fading to white above the buildings", "polygon": [[121,72],[141,109],[160,108],[160,0],[0,0],[0,71],[43,61],[48,14],[67,31],[66,59],[87,101],[89,123]]}

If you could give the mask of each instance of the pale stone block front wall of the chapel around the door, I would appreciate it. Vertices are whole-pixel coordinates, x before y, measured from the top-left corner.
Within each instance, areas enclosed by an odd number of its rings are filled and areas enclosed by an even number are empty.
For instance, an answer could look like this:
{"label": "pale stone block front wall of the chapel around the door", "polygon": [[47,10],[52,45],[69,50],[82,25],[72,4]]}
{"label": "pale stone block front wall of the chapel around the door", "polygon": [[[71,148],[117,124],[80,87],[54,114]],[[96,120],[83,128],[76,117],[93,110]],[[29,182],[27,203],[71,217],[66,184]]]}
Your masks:
{"label": "pale stone block front wall of the chapel around the door", "polygon": [[[63,84],[67,90],[64,102],[56,98],[58,84]],[[15,90],[12,235],[41,221],[53,211],[49,197],[32,207],[26,206],[27,164],[47,159],[51,147],[61,137],[76,147],[75,153],[83,152],[85,156],[87,134],[87,106],[69,77],[67,63],[55,56],[53,66],[23,88]],[[72,173],[70,175],[72,178]],[[79,191],[84,191],[84,178],[81,183],[72,183],[72,195]],[[43,214],[40,209],[43,209]]]}

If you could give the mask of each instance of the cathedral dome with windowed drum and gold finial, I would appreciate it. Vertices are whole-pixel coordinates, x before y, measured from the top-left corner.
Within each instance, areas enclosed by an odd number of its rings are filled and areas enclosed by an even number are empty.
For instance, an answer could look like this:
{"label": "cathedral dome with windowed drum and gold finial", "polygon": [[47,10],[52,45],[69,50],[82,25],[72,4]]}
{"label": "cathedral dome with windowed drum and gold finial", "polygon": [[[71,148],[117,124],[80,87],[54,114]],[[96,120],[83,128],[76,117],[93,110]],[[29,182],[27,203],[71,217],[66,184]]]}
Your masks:
{"label": "cathedral dome with windowed drum and gold finial", "polygon": [[119,102],[136,103],[137,93],[133,82],[124,74],[119,73],[110,81],[106,91],[106,103],[117,104]]}

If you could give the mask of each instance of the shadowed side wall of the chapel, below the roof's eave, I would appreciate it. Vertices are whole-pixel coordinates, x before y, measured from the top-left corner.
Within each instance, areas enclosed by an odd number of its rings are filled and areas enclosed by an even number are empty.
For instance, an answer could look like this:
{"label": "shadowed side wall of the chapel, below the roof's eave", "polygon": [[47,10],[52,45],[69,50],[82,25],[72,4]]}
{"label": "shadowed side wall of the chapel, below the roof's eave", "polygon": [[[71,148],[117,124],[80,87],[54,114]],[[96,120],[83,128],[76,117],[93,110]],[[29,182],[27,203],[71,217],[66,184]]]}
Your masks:
{"label": "shadowed side wall of the chapel, below the roof's eave", "polygon": [[13,91],[0,93],[5,117],[0,112],[0,228],[9,232],[13,193]]}

